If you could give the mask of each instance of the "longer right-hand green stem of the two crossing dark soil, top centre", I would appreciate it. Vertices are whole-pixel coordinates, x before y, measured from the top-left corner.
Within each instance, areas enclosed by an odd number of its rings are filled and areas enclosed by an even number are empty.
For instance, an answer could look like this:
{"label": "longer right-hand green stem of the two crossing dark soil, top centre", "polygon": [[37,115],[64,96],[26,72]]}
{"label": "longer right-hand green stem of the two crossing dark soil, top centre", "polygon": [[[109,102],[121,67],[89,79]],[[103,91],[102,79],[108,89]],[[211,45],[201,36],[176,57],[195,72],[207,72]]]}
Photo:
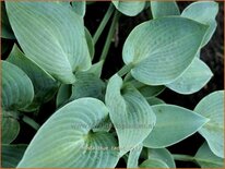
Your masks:
{"label": "longer right-hand green stem of the two crossing dark soil, top centre", "polygon": [[103,62],[105,62],[105,59],[106,59],[106,57],[108,55],[108,50],[109,50],[109,47],[111,45],[111,38],[115,35],[116,26],[117,26],[119,16],[120,16],[120,13],[118,11],[116,11],[115,14],[114,14],[111,26],[110,26],[109,32],[108,32],[108,36],[106,38],[105,46],[103,48],[103,52],[100,55],[100,60],[103,60]]}

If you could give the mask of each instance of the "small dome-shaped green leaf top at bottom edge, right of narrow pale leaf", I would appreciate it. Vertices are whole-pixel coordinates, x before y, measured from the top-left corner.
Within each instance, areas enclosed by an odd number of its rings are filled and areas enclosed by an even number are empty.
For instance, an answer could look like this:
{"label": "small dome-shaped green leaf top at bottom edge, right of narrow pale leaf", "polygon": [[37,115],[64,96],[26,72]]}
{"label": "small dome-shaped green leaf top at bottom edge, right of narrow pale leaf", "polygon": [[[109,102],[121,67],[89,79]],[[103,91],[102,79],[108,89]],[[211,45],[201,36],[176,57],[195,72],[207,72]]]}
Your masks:
{"label": "small dome-shaped green leaf top at bottom edge, right of narrow pale leaf", "polygon": [[159,159],[146,159],[140,165],[140,168],[169,168],[164,161]]}

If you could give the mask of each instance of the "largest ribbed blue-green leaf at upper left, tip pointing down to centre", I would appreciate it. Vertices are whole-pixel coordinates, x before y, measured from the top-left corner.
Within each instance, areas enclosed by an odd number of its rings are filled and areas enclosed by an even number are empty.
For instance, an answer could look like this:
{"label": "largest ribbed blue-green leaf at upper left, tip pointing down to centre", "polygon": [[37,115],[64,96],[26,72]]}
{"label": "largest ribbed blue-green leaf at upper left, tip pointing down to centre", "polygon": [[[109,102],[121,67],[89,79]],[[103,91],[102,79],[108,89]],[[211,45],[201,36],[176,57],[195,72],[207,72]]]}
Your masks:
{"label": "largest ribbed blue-green leaf at upper left, tip pointing down to centre", "polygon": [[56,2],[5,2],[16,39],[32,61],[55,79],[73,83],[91,58],[82,17]]}

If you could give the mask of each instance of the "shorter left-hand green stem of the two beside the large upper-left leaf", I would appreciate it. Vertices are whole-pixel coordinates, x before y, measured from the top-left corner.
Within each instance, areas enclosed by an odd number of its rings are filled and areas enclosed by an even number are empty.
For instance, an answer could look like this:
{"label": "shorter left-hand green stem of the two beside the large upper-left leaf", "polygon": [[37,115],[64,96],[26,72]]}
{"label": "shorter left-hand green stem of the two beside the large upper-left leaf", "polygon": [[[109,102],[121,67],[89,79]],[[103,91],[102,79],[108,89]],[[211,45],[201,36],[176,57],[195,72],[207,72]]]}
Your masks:
{"label": "shorter left-hand green stem of the two beside the large upper-left leaf", "polygon": [[99,36],[102,35],[104,28],[106,27],[106,24],[108,23],[111,14],[114,13],[114,10],[115,10],[114,5],[110,4],[107,12],[106,12],[106,14],[105,14],[105,16],[104,16],[104,19],[102,20],[102,22],[99,24],[97,31],[94,34],[94,37],[93,37],[94,45],[97,43],[97,40],[98,40]]}

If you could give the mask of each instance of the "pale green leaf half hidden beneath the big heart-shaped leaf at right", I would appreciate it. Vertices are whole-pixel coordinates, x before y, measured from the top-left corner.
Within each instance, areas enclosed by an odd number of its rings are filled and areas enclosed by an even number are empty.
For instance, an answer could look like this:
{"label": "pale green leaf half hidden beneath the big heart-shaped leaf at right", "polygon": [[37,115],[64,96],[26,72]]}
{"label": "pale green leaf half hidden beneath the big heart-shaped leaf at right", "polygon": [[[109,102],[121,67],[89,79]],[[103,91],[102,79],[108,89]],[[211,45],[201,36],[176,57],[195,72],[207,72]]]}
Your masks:
{"label": "pale green leaf half hidden beneath the big heart-shaped leaf at right", "polygon": [[210,68],[196,57],[185,73],[166,86],[179,94],[193,94],[204,87],[212,75]]}

